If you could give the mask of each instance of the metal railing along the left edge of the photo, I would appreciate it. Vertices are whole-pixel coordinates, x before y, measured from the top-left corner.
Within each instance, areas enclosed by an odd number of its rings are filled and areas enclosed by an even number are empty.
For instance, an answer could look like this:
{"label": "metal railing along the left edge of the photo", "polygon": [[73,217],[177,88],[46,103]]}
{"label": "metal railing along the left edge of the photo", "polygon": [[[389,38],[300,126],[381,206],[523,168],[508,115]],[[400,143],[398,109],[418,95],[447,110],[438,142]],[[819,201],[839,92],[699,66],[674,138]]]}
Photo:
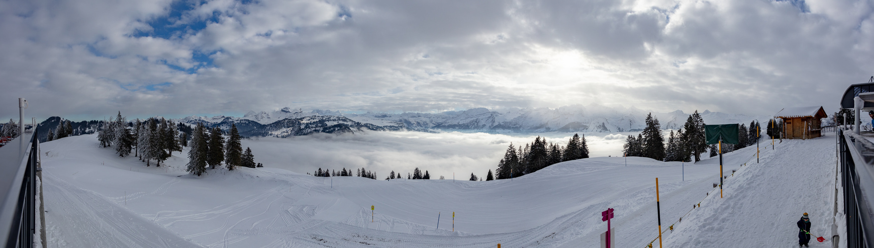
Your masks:
{"label": "metal railing along the left edge of the photo", "polygon": [[28,131],[0,147],[0,245],[33,247],[39,143]]}

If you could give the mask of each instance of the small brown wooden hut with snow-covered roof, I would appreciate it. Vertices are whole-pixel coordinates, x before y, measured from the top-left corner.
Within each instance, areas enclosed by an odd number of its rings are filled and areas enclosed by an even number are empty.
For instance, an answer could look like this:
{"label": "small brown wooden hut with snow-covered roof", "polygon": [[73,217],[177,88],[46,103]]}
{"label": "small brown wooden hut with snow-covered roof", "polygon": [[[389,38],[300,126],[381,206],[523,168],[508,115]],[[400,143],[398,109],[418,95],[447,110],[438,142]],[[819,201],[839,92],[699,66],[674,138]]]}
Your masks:
{"label": "small brown wooden hut with snow-covered roof", "polygon": [[821,119],[828,117],[822,106],[786,108],[777,113],[783,119],[786,138],[808,139],[822,136]]}

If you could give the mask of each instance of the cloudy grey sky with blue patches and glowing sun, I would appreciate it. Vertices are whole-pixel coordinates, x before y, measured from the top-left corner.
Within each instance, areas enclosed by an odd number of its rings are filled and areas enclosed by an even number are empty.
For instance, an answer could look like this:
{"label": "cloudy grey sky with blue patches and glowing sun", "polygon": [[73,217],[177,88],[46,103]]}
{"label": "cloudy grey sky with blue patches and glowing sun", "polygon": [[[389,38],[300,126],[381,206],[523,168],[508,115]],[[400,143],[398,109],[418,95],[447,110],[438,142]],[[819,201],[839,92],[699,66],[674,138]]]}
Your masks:
{"label": "cloudy grey sky with blue patches and glowing sun", "polygon": [[[0,1],[0,117],[836,109],[871,1]],[[779,108],[777,108],[779,110]]]}

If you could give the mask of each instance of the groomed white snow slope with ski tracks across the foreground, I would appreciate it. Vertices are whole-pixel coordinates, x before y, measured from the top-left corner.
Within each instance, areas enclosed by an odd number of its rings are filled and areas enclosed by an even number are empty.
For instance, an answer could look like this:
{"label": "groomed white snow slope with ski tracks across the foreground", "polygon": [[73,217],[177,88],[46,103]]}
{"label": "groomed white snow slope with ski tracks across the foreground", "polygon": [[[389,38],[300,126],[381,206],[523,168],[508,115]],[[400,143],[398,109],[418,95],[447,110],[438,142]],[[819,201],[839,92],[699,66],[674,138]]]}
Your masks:
{"label": "groomed white snow slope with ski tracks across the foreground", "polygon": [[718,158],[586,158],[488,182],[268,167],[198,178],[184,172],[185,153],[146,167],[100,148],[94,135],[66,137],[41,144],[45,225],[48,247],[598,247],[607,230],[600,212],[614,208],[615,244],[645,247],[658,232],[659,178],[665,247],[797,247],[805,211],[812,232],[829,239],[811,247],[830,247],[834,136],[784,140],[773,151],[764,143],[760,164],[754,146],[725,154],[719,198]]}

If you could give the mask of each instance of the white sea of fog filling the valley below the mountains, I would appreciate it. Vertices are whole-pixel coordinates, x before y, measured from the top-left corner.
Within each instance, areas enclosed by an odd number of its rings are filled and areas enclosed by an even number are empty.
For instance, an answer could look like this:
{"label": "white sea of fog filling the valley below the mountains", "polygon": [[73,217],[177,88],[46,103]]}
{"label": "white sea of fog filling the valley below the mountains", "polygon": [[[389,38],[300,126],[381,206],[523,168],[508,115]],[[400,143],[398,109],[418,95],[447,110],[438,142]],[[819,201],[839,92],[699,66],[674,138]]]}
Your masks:
{"label": "white sea of fog filling the valley below the mountains", "polygon": [[[622,144],[637,133],[586,133],[591,157],[621,156]],[[417,131],[367,131],[355,134],[316,133],[302,137],[256,137],[244,139],[256,163],[298,173],[323,170],[354,171],[364,168],[385,179],[390,171],[407,173],[419,168],[432,179],[467,180],[470,173],[485,178],[494,173],[510,143],[529,144],[535,137],[566,145],[573,133],[489,134]]]}

